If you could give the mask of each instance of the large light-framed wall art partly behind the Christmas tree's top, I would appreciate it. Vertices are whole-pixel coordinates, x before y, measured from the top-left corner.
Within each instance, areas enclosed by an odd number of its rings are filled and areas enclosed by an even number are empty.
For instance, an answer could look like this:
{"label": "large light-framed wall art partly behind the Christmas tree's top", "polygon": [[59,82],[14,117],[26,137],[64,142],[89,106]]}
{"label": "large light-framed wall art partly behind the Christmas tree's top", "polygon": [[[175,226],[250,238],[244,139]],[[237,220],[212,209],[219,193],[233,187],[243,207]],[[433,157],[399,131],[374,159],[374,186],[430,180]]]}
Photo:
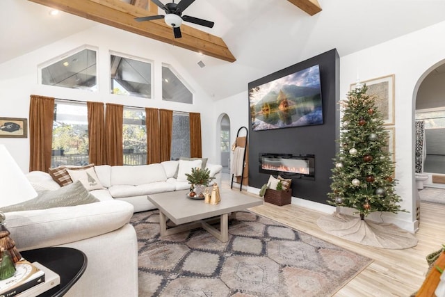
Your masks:
{"label": "large light-framed wall art partly behind the Christmas tree's top", "polygon": [[[394,74],[386,77],[378,77],[377,79],[360,81],[360,83],[365,83],[368,87],[366,94],[377,97],[375,105],[378,111],[382,113],[383,120],[385,121],[383,125],[394,125]],[[357,83],[351,83],[350,90],[355,88],[356,84]]]}

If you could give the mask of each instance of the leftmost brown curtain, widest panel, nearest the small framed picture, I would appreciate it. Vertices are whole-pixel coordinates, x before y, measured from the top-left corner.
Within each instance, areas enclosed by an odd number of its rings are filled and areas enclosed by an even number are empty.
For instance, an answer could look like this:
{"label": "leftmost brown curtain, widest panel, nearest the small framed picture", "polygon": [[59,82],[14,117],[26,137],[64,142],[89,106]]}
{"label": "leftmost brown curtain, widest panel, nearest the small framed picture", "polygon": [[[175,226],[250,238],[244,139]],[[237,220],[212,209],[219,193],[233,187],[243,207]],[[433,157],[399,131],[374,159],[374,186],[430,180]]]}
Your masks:
{"label": "leftmost brown curtain, widest panel, nearest the small framed picture", "polygon": [[54,98],[31,95],[29,103],[29,171],[51,167]]}

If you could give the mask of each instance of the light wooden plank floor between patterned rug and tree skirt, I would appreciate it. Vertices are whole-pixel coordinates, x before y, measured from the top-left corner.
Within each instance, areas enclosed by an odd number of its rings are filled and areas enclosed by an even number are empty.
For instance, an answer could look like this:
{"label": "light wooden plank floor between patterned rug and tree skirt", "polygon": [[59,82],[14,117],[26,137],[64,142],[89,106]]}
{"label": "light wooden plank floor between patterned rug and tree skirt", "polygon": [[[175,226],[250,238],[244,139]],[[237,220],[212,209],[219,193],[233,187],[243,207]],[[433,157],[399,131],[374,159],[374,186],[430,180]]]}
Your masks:
{"label": "light wooden plank floor between patterned rug and tree skirt", "polygon": [[443,223],[445,204],[421,203],[420,228],[416,232],[419,243],[414,248],[405,250],[362,246],[327,234],[316,224],[320,216],[327,214],[298,207],[295,204],[278,207],[264,203],[250,210],[373,259],[364,271],[334,296],[410,296],[421,287],[426,277],[428,270],[426,255],[439,250],[445,243]]}

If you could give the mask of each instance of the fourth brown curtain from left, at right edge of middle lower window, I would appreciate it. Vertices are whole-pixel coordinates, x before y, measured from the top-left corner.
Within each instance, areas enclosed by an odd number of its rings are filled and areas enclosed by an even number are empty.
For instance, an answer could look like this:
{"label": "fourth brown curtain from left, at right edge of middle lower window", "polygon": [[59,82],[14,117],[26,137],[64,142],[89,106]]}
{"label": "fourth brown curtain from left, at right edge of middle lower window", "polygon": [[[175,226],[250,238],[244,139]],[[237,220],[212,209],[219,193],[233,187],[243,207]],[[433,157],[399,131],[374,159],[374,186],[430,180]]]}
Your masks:
{"label": "fourth brown curtain from left, at right edge of middle lower window", "polygon": [[145,109],[147,127],[147,164],[161,163],[159,151],[159,109]]}

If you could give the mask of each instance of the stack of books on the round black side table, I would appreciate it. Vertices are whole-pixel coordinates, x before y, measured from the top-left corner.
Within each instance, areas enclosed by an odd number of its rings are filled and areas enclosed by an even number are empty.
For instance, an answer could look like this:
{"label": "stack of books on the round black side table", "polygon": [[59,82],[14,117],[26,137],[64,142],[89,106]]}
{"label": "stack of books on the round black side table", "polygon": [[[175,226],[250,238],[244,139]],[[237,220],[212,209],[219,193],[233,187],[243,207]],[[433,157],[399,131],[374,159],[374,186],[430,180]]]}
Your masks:
{"label": "stack of books on the round black side table", "polygon": [[60,276],[38,262],[15,263],[15,273],[0,280],[0,297],[34,297],[60,284]]}

